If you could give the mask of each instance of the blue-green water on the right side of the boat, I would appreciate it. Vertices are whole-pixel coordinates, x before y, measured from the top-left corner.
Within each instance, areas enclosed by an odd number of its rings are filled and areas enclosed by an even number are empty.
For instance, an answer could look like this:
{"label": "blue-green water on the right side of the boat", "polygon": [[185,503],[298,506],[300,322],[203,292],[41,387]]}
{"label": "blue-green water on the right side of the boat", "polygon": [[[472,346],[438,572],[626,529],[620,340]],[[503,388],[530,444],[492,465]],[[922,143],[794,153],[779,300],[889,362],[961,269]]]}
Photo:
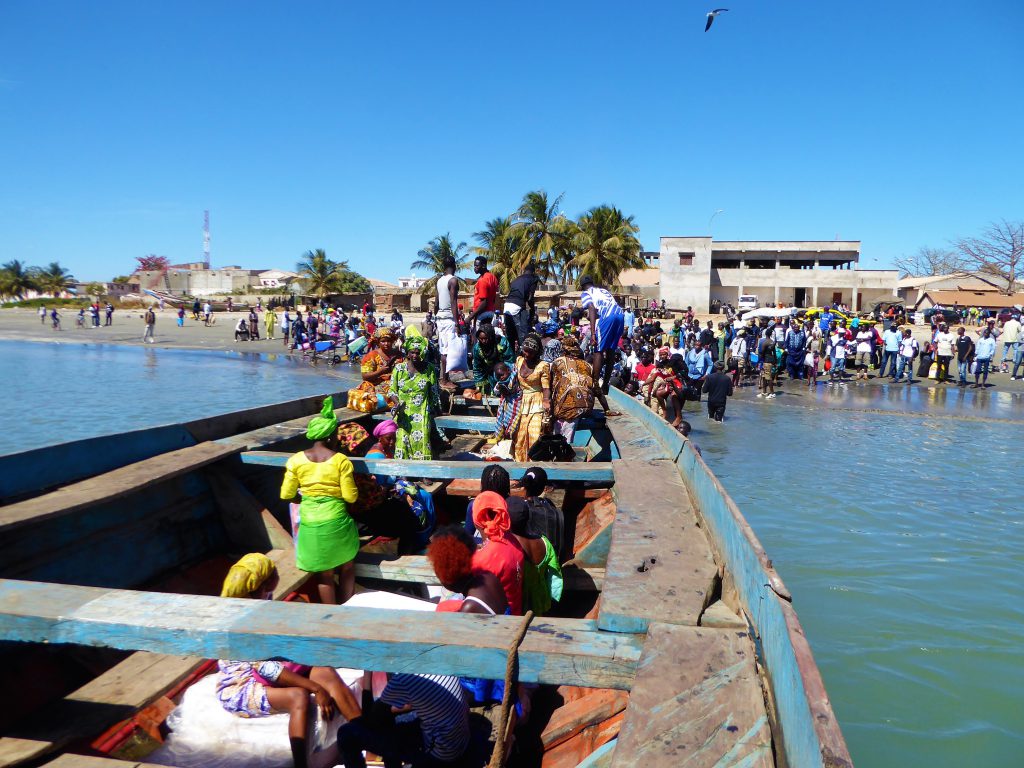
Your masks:
{"label": "blue-green water on the right side of the boat", "polygon": [[948,418],[1019,400],[847,389],[824,397],[946,418],[782,395],[693,437],[795,596],[855,764],[1024,765],[1024,422]]}

